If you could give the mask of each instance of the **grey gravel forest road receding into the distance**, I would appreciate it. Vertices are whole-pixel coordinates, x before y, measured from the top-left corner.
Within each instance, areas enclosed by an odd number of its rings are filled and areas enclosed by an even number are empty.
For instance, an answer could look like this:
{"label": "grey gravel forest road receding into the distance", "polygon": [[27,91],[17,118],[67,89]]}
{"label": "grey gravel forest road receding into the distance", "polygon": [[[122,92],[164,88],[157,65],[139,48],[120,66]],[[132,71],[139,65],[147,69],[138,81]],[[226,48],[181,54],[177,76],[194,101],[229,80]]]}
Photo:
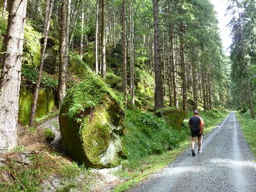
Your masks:
{"label": "grey gravel forest road receding into the distance", "polygon": [[231,112],[204,138],[201,154],[184,153],[131,191],[256,191],[254,160]]}

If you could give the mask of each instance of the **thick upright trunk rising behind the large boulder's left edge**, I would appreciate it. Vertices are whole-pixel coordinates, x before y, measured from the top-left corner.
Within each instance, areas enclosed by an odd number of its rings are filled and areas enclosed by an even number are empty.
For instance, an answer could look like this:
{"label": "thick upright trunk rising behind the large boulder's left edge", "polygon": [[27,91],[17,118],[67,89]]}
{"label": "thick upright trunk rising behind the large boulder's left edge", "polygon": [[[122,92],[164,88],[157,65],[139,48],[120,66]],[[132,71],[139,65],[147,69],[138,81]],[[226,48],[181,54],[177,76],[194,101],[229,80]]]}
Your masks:
{"label": "thick upright trunk rising behind the large boulder's left edge", "polygon": [[68,2],[63,1],[61,7],[61,31],[59,34],[59,106],[66,95],[66,66],[67,52],[69,51],[70,4],[71,0]]}

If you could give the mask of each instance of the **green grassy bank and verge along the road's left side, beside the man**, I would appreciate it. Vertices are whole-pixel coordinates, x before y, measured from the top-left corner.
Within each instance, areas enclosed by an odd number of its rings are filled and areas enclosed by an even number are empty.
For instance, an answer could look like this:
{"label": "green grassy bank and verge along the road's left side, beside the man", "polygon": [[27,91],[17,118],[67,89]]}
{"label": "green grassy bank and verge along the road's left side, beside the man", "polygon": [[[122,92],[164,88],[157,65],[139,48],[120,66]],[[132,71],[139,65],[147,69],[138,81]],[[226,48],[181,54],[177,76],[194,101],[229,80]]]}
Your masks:
{"label": "green grassy bank and verge along the road's left side, beside the man", "polygon": [[[204,133],[214,129],[228,113],[220,109],[201,112],[205,122]],[[182,130],[177,131],[153,113],[127,111],[125,126],[128,133],[123,137],[123,144],[128,159],[123,160],[123,168],[116,172],[125,182],[116,186],[114,191],[129,190],[179,157],[190,145],[187,124],[192,115],[187,114]]]}

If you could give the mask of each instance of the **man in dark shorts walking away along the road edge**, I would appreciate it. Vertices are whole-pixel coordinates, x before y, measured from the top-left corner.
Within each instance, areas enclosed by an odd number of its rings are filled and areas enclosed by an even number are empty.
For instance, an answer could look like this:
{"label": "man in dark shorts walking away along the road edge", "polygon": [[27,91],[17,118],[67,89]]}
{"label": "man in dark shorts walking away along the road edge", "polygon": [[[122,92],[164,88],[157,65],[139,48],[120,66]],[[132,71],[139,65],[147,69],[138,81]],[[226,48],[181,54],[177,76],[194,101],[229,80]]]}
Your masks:
{"label": "man in dark shorts walking away along the road edge", "polygon": [[191,130],[191,152],[195,157],[195,140],[198,140],[198,153],[202,152],[202,135],[204,133],[204,120],[200,118],[199,112],[194,111],[194,115],[189,119],[189,128]]}

